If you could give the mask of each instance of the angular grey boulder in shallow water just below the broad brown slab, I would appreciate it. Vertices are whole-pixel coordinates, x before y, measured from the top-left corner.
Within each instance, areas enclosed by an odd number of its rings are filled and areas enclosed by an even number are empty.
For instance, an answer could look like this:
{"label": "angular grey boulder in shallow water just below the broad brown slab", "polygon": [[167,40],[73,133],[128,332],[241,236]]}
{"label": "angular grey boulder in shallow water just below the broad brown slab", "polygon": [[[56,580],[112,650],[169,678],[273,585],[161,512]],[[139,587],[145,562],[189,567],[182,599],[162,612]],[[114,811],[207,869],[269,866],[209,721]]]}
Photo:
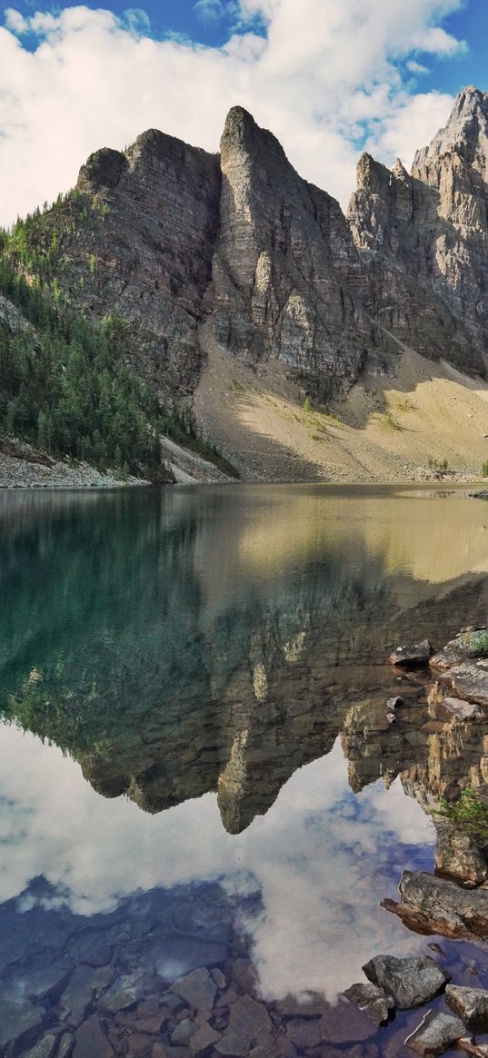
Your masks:
{"label": "angular grey boulder in shallow water just below the broad brown slab", "polygon": [[429,955],[408,959],[376,955],[363,966],[363,971],[368,981],[393,997],[399,1010],[428,1003],[451,980],[451,974]]}

